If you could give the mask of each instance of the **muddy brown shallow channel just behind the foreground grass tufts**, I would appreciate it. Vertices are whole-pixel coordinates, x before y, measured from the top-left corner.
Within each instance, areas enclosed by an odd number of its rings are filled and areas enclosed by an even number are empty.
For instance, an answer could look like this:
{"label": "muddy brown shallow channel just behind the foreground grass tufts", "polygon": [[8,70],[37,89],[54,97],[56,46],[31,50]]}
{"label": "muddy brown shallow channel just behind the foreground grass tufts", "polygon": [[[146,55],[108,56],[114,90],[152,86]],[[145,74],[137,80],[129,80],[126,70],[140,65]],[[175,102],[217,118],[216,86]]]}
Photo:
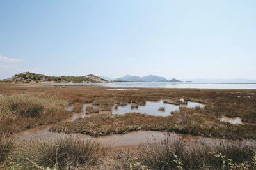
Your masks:
{"label": "muddy brown shallow channel just behind the foreground grass tufts", "polygon": [[[49,129],[49,128],[48,128]],[[49,132],[48,129],[38,130],[33,133],[33,136],[28,132],[26,135],[20,135],[19,139],[24,141],[31,141],[35,138],[51,138],[51,136],[57,135],[58,133]],[[227,143],[228,139],[219,138],[208,138],[203,136],[193,136],[189,134],[176,134],[174,132],[159,132],[159,131],[134,131],[128,134],[111,134],[108,136],[92,137],[86,134],[67,134],[68,136],[74,136],[81,140],[93,140],[102,143],[102,145],[109,148],[113,147],[125,147],[125,146],[138,146],[147,142],[157,142],[164,139],[166,136],[170,136],[172,139],[184,138],[189,143],[189,145],[202,145],[202,142],[208,143],[210,145],[220,145],[220,143]],[[255,143],[253,140],[243,140],[239,141],[244,144]]]}

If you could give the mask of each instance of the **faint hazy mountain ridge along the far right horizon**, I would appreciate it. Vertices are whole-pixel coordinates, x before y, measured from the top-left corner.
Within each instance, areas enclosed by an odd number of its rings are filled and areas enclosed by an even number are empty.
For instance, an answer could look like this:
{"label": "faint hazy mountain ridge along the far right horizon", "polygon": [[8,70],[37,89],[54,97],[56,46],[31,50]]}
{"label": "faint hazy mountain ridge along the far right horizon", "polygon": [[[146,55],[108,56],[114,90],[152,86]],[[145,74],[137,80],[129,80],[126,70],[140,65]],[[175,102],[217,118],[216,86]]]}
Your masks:
{"label": "faint hazy mountain ridge along the far right horizon", "polygon": [[256,83],[256,80],[251,80],[246,78],[236,78],[236,79],[192,78],[192,79],[182,79],[182,80],[186,82],[193,81],[193,83]]}

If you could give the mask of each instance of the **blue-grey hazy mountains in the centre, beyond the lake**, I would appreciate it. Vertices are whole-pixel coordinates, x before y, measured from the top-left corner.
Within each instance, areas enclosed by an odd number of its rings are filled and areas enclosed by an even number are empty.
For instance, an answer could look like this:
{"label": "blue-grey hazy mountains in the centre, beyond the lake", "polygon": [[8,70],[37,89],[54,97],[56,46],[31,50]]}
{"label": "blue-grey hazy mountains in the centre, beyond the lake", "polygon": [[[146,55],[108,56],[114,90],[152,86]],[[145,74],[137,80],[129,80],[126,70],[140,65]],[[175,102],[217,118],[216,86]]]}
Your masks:
{"label": "blue-grey hazy mountains in the centre, beyond the lake", "polygon": [[177,80],[173,78],[172,80],[167,80],[164,77],[160,76],[154,76],[154,75],[149,75],[149,76],[124,76],[121,78],[116,78],[114,81],[131,81],[131,82],[182,82],[180,80]]}

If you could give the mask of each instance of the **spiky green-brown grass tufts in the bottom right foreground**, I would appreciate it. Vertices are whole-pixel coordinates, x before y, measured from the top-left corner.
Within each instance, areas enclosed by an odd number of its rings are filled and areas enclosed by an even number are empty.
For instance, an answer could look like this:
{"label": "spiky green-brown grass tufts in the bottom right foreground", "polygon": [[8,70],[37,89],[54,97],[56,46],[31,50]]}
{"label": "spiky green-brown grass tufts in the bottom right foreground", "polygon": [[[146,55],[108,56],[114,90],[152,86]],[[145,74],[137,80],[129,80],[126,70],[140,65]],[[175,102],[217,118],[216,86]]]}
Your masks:
{"label": "spiky green-brown grass tufts in the bottom right foreground", "polygon": [[173,139],[168,135],[158,143],[141,145],[138,158],[151,169],[232,169],[232,165],[243,164],[253,169],[255,150],[254,145],[189,143],[184,138]]}

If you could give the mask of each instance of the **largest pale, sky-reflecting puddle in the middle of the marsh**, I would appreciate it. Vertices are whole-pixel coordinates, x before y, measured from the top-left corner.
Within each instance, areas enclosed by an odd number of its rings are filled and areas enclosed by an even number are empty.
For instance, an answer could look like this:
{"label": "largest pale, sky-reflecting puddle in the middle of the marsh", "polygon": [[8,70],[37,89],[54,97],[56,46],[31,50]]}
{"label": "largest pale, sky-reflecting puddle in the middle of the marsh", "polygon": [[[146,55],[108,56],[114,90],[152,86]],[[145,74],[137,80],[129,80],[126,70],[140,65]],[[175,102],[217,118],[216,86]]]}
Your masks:
{"label": "largest pale, sky-reflecting puddle in the middle of the marsh", "polygon": [[[159,110],[159,108],[161,108],[161,107],[164,107],[163,111]],[[166,117],[166,116],[170,116],[173,111],[179,111],[179,107],[180,106],[177,106],[175,104],[164,103],[163,100],[147,101],[145,106],[138,106],[138,108],[135,108],[134,106],[132,106],[132,103],[129,103],[125,106],[118,106],[117,108],[115,108],[115,106],[114,106],[112,109],[112,114],[122,115],[125,113],[136,112],[136,113],[145,113],[148,115]],[[188,101],[188,103],[182,105],[182,107],[203,108],[204,104]]]}

